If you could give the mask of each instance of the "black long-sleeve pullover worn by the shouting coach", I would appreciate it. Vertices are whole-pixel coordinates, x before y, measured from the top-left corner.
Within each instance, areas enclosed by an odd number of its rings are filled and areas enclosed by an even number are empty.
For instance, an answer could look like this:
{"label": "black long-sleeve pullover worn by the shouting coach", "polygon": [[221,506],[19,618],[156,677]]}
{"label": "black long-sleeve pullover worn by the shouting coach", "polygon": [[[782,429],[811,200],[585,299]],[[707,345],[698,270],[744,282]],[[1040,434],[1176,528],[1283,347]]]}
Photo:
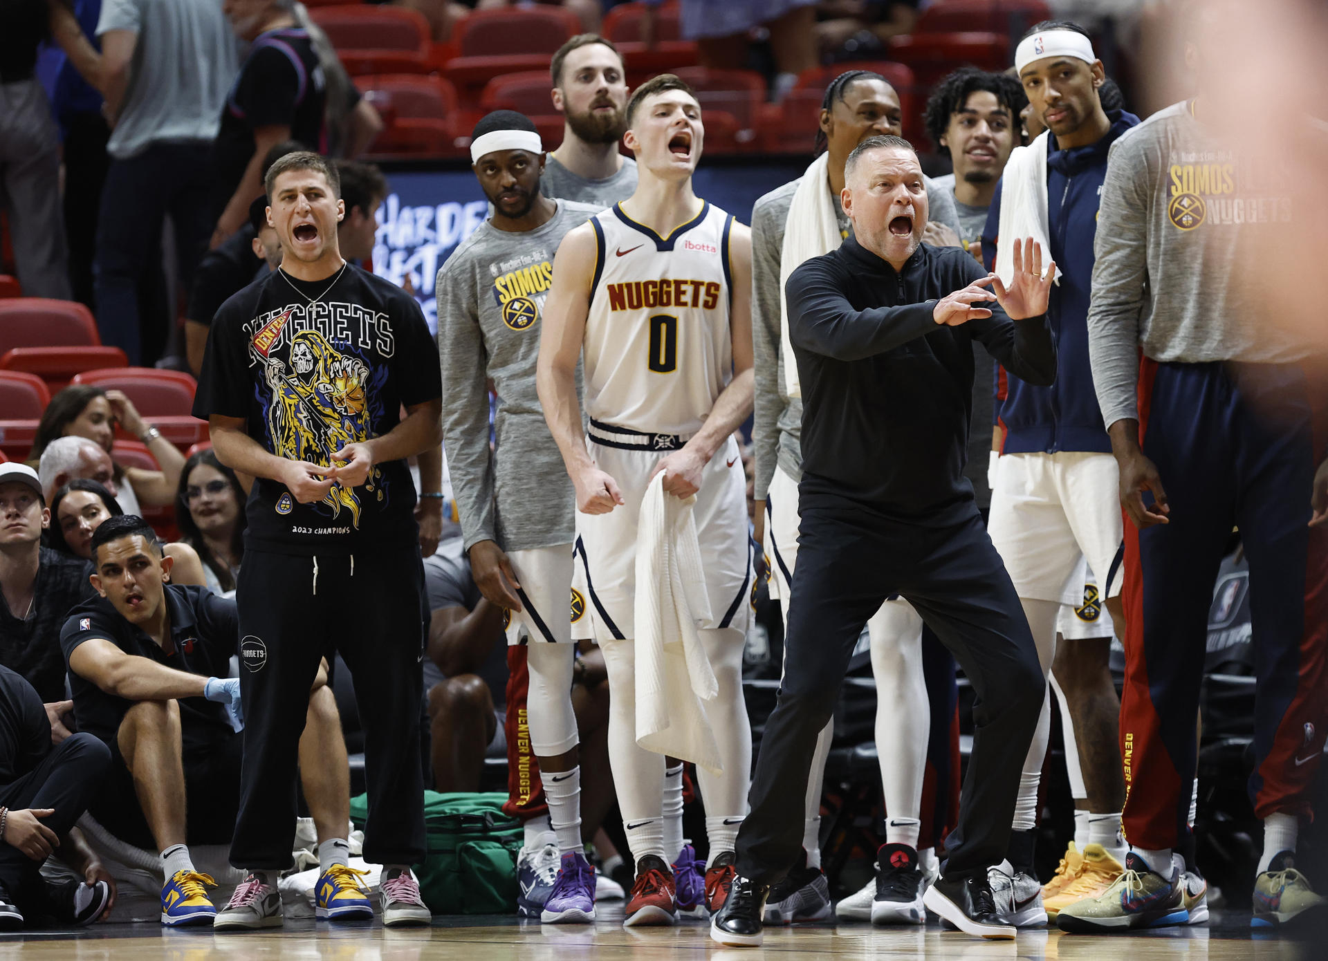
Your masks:
{"label": "black long-sleeve pullover worn by the shouting coach", "polygon": [[[802,386],[806,498],[847,498],[899,520],[948,524],[973,510],[963,475],[973,398],[972,340],[1011,373],[1056,380],[1046,317],[936,324],[948,293],[987,276],[957,247],[918,250],[896,272],[855,238],[789,277],[789,340]],[[985,425],[983,425],[985,429]]]}

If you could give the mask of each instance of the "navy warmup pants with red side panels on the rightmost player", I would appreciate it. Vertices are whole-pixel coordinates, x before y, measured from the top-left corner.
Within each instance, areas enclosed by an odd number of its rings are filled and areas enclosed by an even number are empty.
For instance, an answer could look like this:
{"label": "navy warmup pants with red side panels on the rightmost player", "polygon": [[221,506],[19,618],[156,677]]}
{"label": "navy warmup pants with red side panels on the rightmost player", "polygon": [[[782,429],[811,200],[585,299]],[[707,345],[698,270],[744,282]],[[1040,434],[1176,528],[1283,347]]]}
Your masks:
{"label": "navy warmup pants with red side panels on the rightmost player", "polygon": [[1139,377],[1139,442],[1170,523],[1125,524],[1125,835],[1179,847],[1223,546],[1240,528],[1255,648],[1255,814],[1309,814],[1324,746],[1328,528],[1308,527],[1325,454],[1321,386],[1292,364],[1159,364]]}

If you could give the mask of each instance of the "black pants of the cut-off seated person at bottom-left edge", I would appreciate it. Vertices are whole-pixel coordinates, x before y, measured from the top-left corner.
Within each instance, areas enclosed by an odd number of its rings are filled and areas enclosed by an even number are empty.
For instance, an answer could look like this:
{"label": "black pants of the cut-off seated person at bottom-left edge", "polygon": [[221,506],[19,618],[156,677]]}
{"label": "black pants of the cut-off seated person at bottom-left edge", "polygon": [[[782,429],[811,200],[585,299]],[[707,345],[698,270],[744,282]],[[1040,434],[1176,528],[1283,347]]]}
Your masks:
{"label": "black pants of the cut-off seated person at bottom-left edge", "polygon": [[[0,806],[11,811],[54,808],[54,814],[42,818],[41,823],[64,838],[88,810],[109,766],[110,749],[106,745],[92,734],[72,734],[21,778],[0,784]],[[20,909],[44,901],[40,868],[40,861],[12,844],[0,843],[0,884],[16,899]]]}

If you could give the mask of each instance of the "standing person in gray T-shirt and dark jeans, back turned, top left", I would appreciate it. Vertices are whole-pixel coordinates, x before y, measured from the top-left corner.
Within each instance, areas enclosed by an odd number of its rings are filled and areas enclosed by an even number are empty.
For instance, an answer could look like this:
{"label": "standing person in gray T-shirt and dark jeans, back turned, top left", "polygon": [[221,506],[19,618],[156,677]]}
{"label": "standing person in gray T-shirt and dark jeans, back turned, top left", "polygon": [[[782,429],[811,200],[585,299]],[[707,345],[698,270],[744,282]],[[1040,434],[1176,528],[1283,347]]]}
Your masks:
{"label": "standing person in gray T-shirt and dark jeans, back turned, top left", "polygon": [[139,336],[138,289],[159,269],[167,214],[186,288],[207,248],[211,145],[238,69],[235,41],[220,5],[197,0],[104,0],[97,37],[113,125],[97,219],[97,325],[131,365],[150,365],[155,349],[145,342],[163,337]]}

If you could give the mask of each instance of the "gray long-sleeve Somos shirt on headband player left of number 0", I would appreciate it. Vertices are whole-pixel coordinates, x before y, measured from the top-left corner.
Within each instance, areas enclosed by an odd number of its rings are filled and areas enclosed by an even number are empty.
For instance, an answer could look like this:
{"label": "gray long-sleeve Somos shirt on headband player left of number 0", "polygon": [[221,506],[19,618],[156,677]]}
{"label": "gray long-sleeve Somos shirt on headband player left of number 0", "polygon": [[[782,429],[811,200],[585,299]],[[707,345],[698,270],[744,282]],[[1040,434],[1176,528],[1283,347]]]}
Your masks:
{"label": "gray long-sleeve Somos shirt on headband player left of number 0", "polygon": [[[563,236],[600,207],[558,200],[542,227],[501,231],[486,220],[438,271],[442,435],[463,548],[568,544],[576,498],[535,393],[539,317]],[[498,393],[489,445],[489,390]]]}

